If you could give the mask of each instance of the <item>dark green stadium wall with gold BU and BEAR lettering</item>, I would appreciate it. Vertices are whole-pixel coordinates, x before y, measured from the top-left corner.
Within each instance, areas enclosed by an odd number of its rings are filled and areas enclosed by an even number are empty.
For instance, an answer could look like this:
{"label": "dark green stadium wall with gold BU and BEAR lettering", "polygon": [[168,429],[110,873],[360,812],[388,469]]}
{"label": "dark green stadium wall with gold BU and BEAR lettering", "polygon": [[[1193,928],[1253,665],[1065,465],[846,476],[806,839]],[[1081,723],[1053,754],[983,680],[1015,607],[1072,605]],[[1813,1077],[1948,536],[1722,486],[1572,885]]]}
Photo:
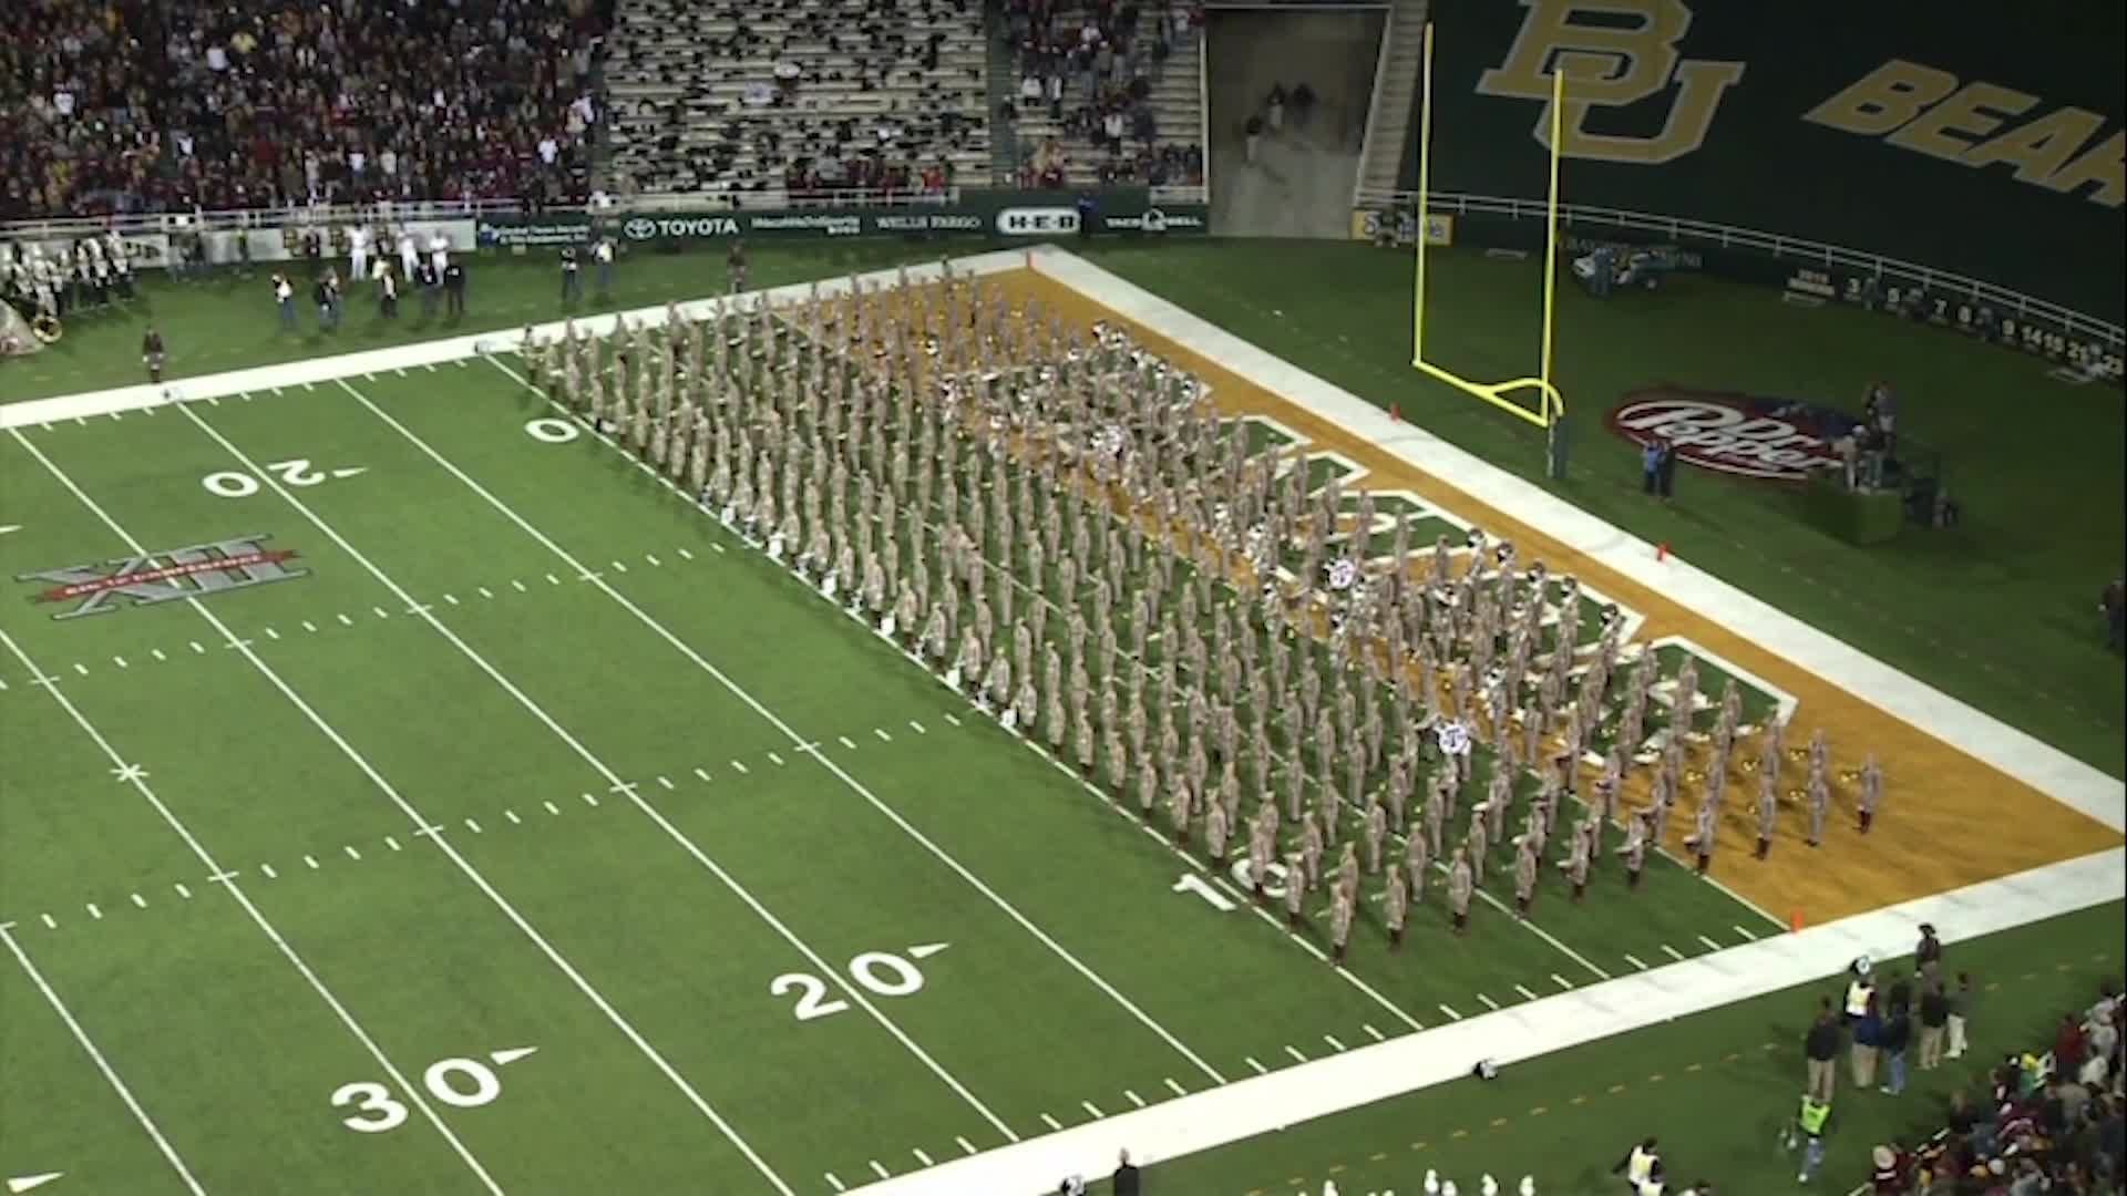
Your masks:
{"label": "dark green stadium wall with gold BU and BEAR lettering", "polygon": [[2127,309],[2118,2],[1431,9],[1436,192],[1544,194],[1544,74],[1563,57],[1589,81],[1585,111],[1568,102],[1568,202],[1825,240],[2110,321]]}

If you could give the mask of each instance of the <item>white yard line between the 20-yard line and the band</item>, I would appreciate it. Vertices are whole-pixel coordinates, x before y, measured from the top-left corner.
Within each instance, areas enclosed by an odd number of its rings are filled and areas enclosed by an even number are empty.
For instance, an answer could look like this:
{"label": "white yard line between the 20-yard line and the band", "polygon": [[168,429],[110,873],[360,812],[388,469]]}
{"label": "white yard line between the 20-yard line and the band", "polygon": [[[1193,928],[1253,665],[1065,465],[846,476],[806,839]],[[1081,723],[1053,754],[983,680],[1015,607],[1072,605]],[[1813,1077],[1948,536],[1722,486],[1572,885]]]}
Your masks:
{"label": "white yard line between the 20-yard line and the band", "polygon": [[[493,358],[489,358],[489,364],[493,364],[498,370],[502,370],[504,375],[508,375],[510,379],[515,379],[519,385],[525,385],[530,389],[530,385],[519,375],[515,375],[508,366],[496,362]],[[551,551],[555,558],[559,558],[562,562],[566,562],[570,568],[574,568],[579,572],[585,572],[583,562],[579,562],[568,549],[564,549],[562,545],[553,543],[553,538],[549,538],[545,532],[540,532],[538,528],[534,528],[532,524],[527,524],[521,515],[517,515],[515,511],[510,511],[487,487],[483,487],[479,481],[474,481],[470,475],[466,475],[466,470],[457,468],[457,464],[453,464],[449,458],[445,458],[434,447],[430,447],[425,441],[421,441],[411,428],[406,428],[404,423],[400,423],[398,419],[393,419],[387,411],[383,411],[381,406],[376,406],[374,402],[370,402],[362,392],[357,392],[355,387],[347,385],[345,379],[340,379],[340,387],[347,389],[347,394],[351,394],[355,398],[355,402],[359,402],[372,415],[376,415],[376,419],[383,419],[389,428],[393,428],[400,436],[404,436],[423,455],[428,455],[432,462],[436,462],[438,466],[442,466],[451,477],[455,477],[457,481],[462,481],[468,489],[472,489],[474,494],[479,494],[489,506],[496,509],[496,513],[500,513],[504,519],[508,519],[510,524],[515,524],[527,536],[532,536],[534,541],[538,541],[540,545],[545,545],[547,551]],[[287,494],[274,481],[268,481],[268,485],[272,485],[272,489],[279,492],[279,494],[283,494],[283,496]],[[294,496],[289,496],[289,502],[294,502]],[[859,783],[855,777],[851,777],[849,770],[844,770],[840,764],[836,764],[834,760],[830,760],[827,753],[823,753],[819,749],[808,749],[806,743],[810,743],[810,741],[806,741],[806,736],[798,734],[795,728],[791,728],[774,711],[770,711],[768,707],[764,707],[753,694],[749,694],[747,690],[742,690],[723,670],[719,670],[715,664],[710,664],[708,660],[704,660],[702,653],[693,651],[693,647],[687,645],[685,641],[681,641],[676,634],[672,634],[670,628],[666,628],[664,624],[659,624],[657,619],[653,619],[647,611],[642,611],[640,607],[636,607],[627,596],[623,596],[621,592],[613,589],[613,585],[608,585],[606,579],[600,577],[600,579],[591,581],[591,585],[598,587],[608,598],[613,598],[615,602],[619,602],[621,609],[625,609],[630,615],[636,617],[636,621],[640,621],[644,628],[649,628],[659,638],[664,638],[668,645],[672,645],[681,655],[685,655],[687,660],[691,660],[702,672],[708,672],[710,677],[715,677],[717,683],[723,685],[734,698],[738,698],[740,702],[744,702],[747,707],[751,707],[753,713],[761,715],[791,745],[795,745],[800,751],[804,751],[815,762],[819,762],[821,768],[825,768],[827,773],[832,773],[838,781],[842,781],[842,785],[847,785],[851,792],[855,792],[857,796],[861,796],[872,809],[876,809],[889,821],[893,821],[898,828],[902,828],[904,834],[908,834],[910,838],[915,838],[917,843],[921,843],[934,858],[938,858],[938,862],[942,862],[947,868],[951,868],[953,873],[957,873],[964,881],[968,881],[970,885],[974,885],[974,890],[981,892],[985,898],[989,898],[991,904],[995,904],[1012,921],[1017,921],[1021,928],[1025,928],[1029,934],[1034,934],[1057,958],[1061,958],[1066,964],[1070,964],[1072,970],[1076,970],[1081,977],[1085,977],[1087,981],[1091,981],[1104,994],[1108,994],[1117,1004],[1121,1004],[1125,1011],[1129,1011],[1129,1015],[1136,1017],[1140,1026],[1144,1026],[1146,1030],[1151,1030],[1153,1034],[1157,1034],[1161,1041],[1166,1041],[1170,1047],[1174,1047],[1176,1053],[1180,1053],[1198,1070],[1202,1070],[1206,1077],[1210,1077],[1212,1083],[1225,1083],[1225,1077],[1219,1073],[1219,1068],[1210,1066],[1210,1062],[1206,1062],[1200,1053],[1195,1053],[1193,1049],[1189,1049],[1166,1026],[1161,1026],[1149,1013],[1144,1013],[1134,1000],[1129,1000],[1127,996],[1123,996],[1115,985],[1110,985],[1106,979],[1102,979],[1083,960],[1078,960],[1068,949],[1064,949],[1064,945],[1057,943],[1055,938],[1051,938],[1046,930],[1042,930],[1040,926],[1036,926],[1027,915],[1023,915],[1017,907],[1012,907],[1008,900],[1004,900],[995,890],[991,890],[981,877],[976,877],[972,870],[968,870],[959,860],[955,860],[942,847],[938,847],[936,843],[932,843],[932,838],[925,836],[921,830],[917,830],[906,817],[902,817],[900,811],[895,811],[887,802],[878,800],[876,794],[872,794],[864,783]],[[878,734],[881,734],[881,738],[887,738],[883,730]],[[644,807],[644,811],[649,811],[649,807]],[[657,815],[657,817],[659,817],[659,821],[664,821],[661,815]],[[670,826],[670,824],[666,824],[666,826]],[[674,830],[674,834],[679,834],[679,832]],[[827,968],[821,968],[821,970],[827,970]],[[834,973],[830,970],[830,975],[834,975]],[[857,996],[857,1000],[861,1002],[864,998]],[[1002,1128],[1002,1122],[1000,1122],[1000,1128]]]}

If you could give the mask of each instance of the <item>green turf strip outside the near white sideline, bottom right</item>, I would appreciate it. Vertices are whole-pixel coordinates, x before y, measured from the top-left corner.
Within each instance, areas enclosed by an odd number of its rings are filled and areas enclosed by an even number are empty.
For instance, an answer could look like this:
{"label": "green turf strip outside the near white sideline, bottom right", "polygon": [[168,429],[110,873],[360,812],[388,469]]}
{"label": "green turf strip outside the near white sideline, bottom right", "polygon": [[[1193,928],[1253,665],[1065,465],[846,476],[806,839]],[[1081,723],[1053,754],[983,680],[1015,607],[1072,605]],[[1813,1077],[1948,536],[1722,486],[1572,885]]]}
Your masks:
{"label": "green turf strip outside the near white sideline, bottom right", "polygon": [[[1980,987],[1963,1060],[1910,1070],[1902,1096],[1855,1092],[1840,1060],[1825,1170],[1802,1192],[1842,1194],[1868,1179],[1876,1143],[1914,1143],[1942,1126],[1948,1094],[1978,1085],[2010,1051],[2044,1049],[2059,1015],[2097,998],[2118,977],[2127,907],[2108,904],[1957,943],[1946,966]],[[1887,962],[1904,970],[1906,962]],[[1646,1134],[1680,1181],[1721,1192],[1789,1192],[1797,1160],[1774,1145],[1802,1096],[1802,1034],[1814,981],[1697,1013],[1659,1028],[1506,1066],[1495,1081],[1457,1079],[1293,1126],[1202,1156],[1153,1166],[1157,1196],[1421,1192],[1434,1168],[1468,1194],[1491,1173],[1502,1192],[1534,1175],[1542,1196],[1614,1192],[1610,1164]]]}

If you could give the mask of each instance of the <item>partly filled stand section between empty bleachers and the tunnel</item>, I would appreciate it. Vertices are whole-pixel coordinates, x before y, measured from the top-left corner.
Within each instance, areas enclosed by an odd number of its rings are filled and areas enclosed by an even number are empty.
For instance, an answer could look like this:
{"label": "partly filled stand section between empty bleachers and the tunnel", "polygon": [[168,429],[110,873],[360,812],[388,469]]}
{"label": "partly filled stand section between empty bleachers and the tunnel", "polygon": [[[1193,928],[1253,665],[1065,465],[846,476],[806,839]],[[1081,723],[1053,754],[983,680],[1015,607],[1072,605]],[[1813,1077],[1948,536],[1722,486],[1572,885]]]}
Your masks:
{"label": "partly filled stand section between empty bleachers and the tunnel", "polygon": [[1202,26],[1200,6],[1006,0],[1019,185],[1200,185]]}

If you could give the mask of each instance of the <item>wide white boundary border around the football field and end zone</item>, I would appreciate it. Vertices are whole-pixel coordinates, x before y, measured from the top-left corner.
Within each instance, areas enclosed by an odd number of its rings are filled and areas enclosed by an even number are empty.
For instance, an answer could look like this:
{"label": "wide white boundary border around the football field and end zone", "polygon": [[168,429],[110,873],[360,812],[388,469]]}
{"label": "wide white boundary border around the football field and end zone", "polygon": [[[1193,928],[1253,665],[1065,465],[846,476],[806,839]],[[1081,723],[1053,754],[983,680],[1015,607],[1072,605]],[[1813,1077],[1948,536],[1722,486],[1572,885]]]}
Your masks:
{"label": "wide white boundary border around the football field and end zone", "polygon": [[[1034,266],[1095,302],[1151,328],[1153,332],[1217,360],[1234,375],[1338,423],[1353,436],[1404,460],[1412,468],[1451,481],[1506,515],[1542,526],[1546,534],[1597,564],[1651,589],[1693,607],[1768,651],[1855,694],[1876,709],[1957,745],[1976,760],[2025,781],[2112,830],[2127,828],[2127,785],[2097,768],[2010,728],[1978,709],[1933,690],[1859,649],[1736,589],[1734,585],[1674,555],[1657,562],[1655,547],[1580,511],[1497,466],[1474,458],[1438,436],[1395,421],[1380,409],[1272,353],[1204,321],[1198,315],[1083,262],[1040,247],[995,251],[951,262],[959,275],[991,275]],[[932,281],[936,264],[908,266],[912,281]],[[887,283],[902,270],[859,275],[866,285]],[[813,283],[749,292],[747,302],[766,294],[789,302]],[[821,279],[821,294],[847,294],[849,279]],[[676,304],[687,315],[708,315],[723,300]],[[591,334],[610,332],[619,319],[661,319],[664,306],[634,309],[576,319]],[[555,336],[564,321],[536,326]],[[421,345],[374,349],[340,358],[319,358],[281,366],[181,379],[168,385],[132,385],[62,398],[0,406],[0,430],[57,419],[117,415],[170,402],[217,400],[247,392],[274,392],[408,366],[434,366],[479,355],[481,345],[515,345],[521,330],[498,330]],[[296,400],[294,394],[283,396]],[[1721,1004],[1821,979],[1859,953],[1902,956],[1912,947],[1914,926],[1933,921],[1963,941],[2031,921],[2121,900],[2127,892],[2127,849],[2108,849],[1963,890],[1902,902],[1872,913],[1829,921],[1799,934],[1761,938],[1712,956],[1623,975],[1568,994],[1548,996],[1497,1013],[1472,1015],[1448,1026],[1406,1034],[1389,1043],[1355,1047],[1268,1077],[1180,1096],[1149,1109],[1112,1115],[1087,1126],[1051,1132],[1010,1147],[959,1158],[921,1173],[870,1183],[859,1192],[876,1196],[998,1196],[1053,1190],[1064,1175],[1104,1175],[1117,1149],[1140,1162],[1163,1162],[1229,1145],[1255,1134],[1340,1113],[1359,1104],[1400,1096],[1468,1075],[1478,1058],[1502,1064],[1576,1047],[1589,1041],[1672,1021]]]}

